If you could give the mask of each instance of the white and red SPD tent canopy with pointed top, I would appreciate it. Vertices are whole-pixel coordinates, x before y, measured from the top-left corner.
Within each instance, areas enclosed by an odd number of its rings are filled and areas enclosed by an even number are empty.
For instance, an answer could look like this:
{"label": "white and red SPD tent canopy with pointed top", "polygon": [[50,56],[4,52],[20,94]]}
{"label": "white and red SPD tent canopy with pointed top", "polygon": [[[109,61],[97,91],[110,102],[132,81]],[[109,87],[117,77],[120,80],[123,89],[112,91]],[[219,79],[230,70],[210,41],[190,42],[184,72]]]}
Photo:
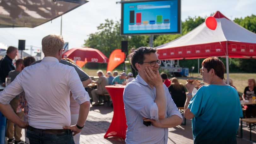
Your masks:
{"label": "white and red SPD tent canopy with pointed top", "polygon": [[197,59],[209,56],[256,58],[256,34],[239,26],[217,11],[215,30],[205,22],[169,43],[156,47],[160,60]]}

